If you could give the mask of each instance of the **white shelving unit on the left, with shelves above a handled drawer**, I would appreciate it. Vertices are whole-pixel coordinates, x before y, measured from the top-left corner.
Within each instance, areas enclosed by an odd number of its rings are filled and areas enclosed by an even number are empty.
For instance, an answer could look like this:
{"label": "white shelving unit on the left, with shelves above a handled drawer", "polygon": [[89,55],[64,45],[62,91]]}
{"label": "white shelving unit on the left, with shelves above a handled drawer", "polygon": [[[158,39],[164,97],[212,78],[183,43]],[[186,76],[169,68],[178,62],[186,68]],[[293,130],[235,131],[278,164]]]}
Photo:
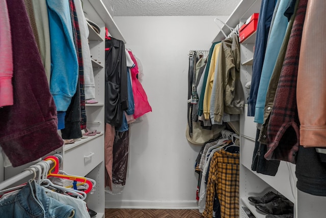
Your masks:
{"label": "white shelving unit on the left, with shelves above a handled drawer", "polygon": [[[88,194],[86,203],[88,208],[97,212],[95,218],[103,218],[104,208],[104,102],[105,102],[105,26],[109,34],[125,42],[118,26],[114,22],[110,13],[101,0],[83,0],[83,10],[87,18],[95,22],[100,27],[98,34],[91,25],[89,29],[89,46],[92,55],[92,66],[95,80],[95,100],[98,103],[86,104],[87,127],[91,130],[97,130],[98,134],[75,141],[73,144],[67,144],[57,149],[49,155],[61,154],[63,162],[60,169],[71,175],[85,176],[96,181],[96,190]],[[60,131],[59,131],[60,132]],[[46,155],[47,156],[47,155]],[[34,162],[13,168],[4,167],[4,158],[0,154],[0,181],[8,179]],[[17,184],[21,184],[17,181]]]}

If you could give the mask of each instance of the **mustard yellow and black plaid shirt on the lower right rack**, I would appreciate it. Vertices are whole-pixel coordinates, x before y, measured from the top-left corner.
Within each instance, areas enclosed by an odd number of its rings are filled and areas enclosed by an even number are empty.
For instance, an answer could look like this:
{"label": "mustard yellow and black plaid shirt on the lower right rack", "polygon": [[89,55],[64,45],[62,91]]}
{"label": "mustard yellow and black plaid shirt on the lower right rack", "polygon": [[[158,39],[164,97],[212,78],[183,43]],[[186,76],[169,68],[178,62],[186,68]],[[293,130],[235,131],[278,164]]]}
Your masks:
{"label": "mustard yellow and black plaid shirt on the lower right rack", "polygon": [[221,217],[239,217],[239,153],[223,149],[216,151],[210,161],[204,217],[213,217],[215,191],[221,206]]}

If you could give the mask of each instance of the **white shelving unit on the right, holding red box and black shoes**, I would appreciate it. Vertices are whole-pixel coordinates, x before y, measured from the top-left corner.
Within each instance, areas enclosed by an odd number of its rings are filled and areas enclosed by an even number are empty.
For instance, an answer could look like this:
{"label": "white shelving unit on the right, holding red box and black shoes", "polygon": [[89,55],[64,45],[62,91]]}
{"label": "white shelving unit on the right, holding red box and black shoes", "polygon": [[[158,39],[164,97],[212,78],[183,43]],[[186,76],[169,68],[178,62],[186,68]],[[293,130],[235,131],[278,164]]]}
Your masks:
{"label": "white shelving unit on the right, holding red box and black shoes", "polygon": [[[253,13],[259,13],[261,0],[242,0],[237,8],[233,11],[227,20],[227,24],[231,27],[235,27],[238,23],[243,24],[248,17]],[[222,30],[228,35],[230,30],[226,25]],[[254,123],[254,117],[247,116],[248,104],[247,99],[249,97],[249,89],[246,89],[246,85],[251,81],[252,76],[252,64],[254,56],[254,44],[256,33],[253,33],[246,40],[243,40],[240,44],[240,80],[243,87],[245,107],[243,114],[240,115],[240,192],[239,192],[239,214],[241,218],[248,217],[243,212],[242,207],[246,206],[254,214],[256,218],[265,218],[267,215],[255,208],[255,205],[248,200],[251,196],[263,196],[269,191],[273,191],[277,194],[281,194],[289,199],[292,203],[296,204],[296,177],[295,166],[292,163],[281,161],[276,176],[268,176],[256,173],[251,170],[253,151],[255,147],[256,138],[256,123]],[[222,32],[220,32],[213,42],[221,41],[224,39]],[[298,218],[299,216],[295,216]]]}

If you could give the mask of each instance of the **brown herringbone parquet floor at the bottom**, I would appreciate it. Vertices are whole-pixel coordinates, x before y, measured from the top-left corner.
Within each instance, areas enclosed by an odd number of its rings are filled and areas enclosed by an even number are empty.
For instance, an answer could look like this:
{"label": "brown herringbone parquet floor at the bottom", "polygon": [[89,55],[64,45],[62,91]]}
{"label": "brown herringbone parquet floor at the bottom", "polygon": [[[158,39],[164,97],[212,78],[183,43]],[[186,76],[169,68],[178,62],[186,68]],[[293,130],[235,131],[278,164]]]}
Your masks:
{"label": "brown herringbone parquet floor at the bottom", "polygon": [[105,209],[105,218],[200,218],[198,210]]}

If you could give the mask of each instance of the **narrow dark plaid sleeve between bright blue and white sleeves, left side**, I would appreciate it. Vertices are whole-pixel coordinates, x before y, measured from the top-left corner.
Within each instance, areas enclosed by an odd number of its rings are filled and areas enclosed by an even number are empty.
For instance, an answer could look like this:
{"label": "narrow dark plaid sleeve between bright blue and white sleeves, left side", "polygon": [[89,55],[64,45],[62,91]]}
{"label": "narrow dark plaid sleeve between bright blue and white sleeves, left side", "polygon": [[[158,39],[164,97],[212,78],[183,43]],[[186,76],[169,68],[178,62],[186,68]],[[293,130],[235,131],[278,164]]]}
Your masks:
{"label": "narrow dark plaid sleeve between bright blue and white sleeves, left side", "polygon": [[78,59],[78,79],[80,90],[80,129],[85,129],[86,126],[86,108],[85,108],[85,81],[84,81],[84,62],[82,53],[82,38],[80,37],[80,30],[76,8],[73,0],[69,0],[70,15],[72,21],[72,32],[74,34],[74,42]]}

